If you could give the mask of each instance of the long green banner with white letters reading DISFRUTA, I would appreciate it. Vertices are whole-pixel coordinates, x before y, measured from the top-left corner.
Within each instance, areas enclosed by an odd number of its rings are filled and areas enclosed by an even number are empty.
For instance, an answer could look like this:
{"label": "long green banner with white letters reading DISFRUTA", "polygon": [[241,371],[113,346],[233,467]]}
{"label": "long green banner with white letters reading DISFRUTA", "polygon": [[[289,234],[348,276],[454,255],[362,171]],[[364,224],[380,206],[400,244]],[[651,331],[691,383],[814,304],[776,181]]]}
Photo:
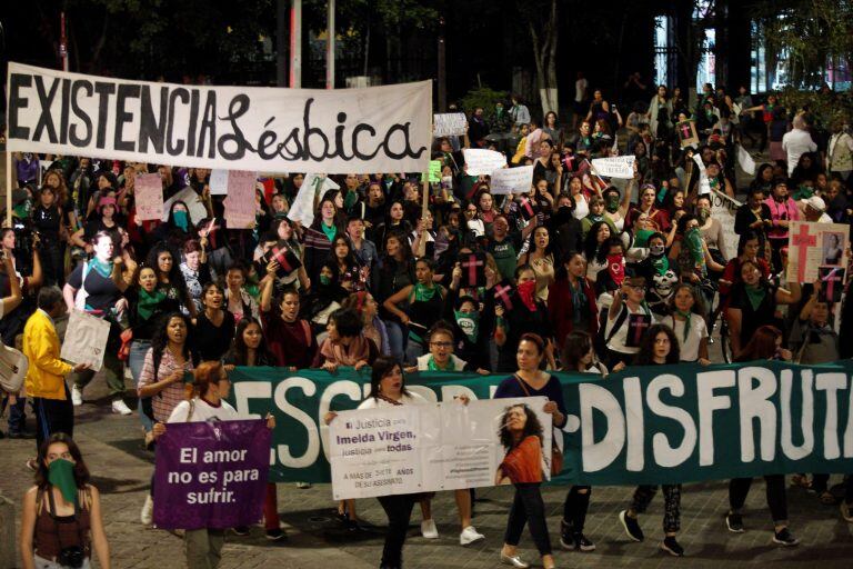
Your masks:
{"label": "long green banner with white letters reading DISFRUTA", "polygon": [[[568,412],[556,479],[592,486],[675,483],[784,472],[853,472],[853,362],[760,361],[629,368],[606,379],[561,373]],[[370,369],[237,368],[238,411],[271,411],[271,481],[330,480],[329,410],[354,409]],[[432,401],[490,398],[506,376],[422,372],[409,389]]]}

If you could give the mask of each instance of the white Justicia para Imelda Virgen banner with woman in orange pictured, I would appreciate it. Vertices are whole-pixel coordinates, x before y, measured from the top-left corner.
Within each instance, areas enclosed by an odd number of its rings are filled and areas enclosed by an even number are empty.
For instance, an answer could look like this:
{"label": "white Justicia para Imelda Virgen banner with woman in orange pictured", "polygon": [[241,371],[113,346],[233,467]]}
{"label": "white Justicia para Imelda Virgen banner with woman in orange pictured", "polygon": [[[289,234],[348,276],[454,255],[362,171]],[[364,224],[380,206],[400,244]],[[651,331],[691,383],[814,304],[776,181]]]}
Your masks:
{"label": "white Justicia para Imelda Virgen banner with woman in orange pictured", "polygon": [[548,480],[546,402],[525,397],[340,412],[329,429],[334,499]]}

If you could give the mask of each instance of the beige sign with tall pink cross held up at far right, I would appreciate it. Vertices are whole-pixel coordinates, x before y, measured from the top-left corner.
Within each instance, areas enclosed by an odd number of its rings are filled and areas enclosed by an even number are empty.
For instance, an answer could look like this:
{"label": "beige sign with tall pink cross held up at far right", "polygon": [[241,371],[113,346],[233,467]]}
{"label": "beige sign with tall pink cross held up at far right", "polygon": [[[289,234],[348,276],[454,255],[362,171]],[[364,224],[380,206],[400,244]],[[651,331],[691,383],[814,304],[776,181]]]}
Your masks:
{"label": "beige sign with tall pink cross held up at far right", "polygon": [[787,281],[814,282],[821,267],[841,267],[850,227],[844,223],[791,221],[787,232]]}

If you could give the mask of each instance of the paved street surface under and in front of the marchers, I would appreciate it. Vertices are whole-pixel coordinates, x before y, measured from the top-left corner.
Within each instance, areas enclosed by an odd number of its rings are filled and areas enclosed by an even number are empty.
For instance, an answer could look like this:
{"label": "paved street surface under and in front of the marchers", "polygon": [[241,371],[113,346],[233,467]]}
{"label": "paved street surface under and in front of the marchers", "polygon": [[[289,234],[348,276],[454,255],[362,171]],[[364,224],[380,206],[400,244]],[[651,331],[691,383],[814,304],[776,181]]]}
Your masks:
{"label": "paved street surface under and in front of the marchers", "polygon": [[[106,399],[89,399],[104,395],[106,388],[97,379],[87,390],[86,405],[77,410],[76,439],[84,452],[94,485],[103,493],[113,567],[184,567],[181,540],[178,537],[161,530],[145,529],[139,522],[139,509],[148,490],[153,457],[142,449],[141,430],[134,417],[113,416],[109,413]],[[31,485],[31,473],[23,463],[33,455],[33,448],[34,442],[31,440],[0,441],[0,493],[12,499],[16,507],[19,507],[23,491]],[[586,533],[595,541],[598,550],[592,553],[559,551],[559,566],[652,568],[682,563],[683,567],[714,569],[721,562],[734,563],[736,567],[820,566],[829,569],[852,566],[853,525],[840,518],[836,507],[822,506],[801,489],[791,489],[789,497],[791,527],[801,538],[802,545],[799,548],[782,549],[771,543],[770,516],[764,503],[762,482],[756,482],[750,495],[745,520],[747,532],[740,536],[729,533],[723,525],[722,517],[727,503],[725,483],[686,486],[682,499],[683,527],[680,540],[689,557],[681,560],[658,550],[658,542],[662,539],[660,497],[641,520],[646,541],[634,543],[624,536],[616,515],[628,503],[631,490],[594,489]],[[565,488],[549,487],[543,493],[551,538],[556,545]],[[458,545],[459,528],[451,492],[440,493],[433,505],[441,533],[438,540],[428,541],[420,537],[415,528],[420,522],[420,512],[415,508],[405,547],[407,567],[473,569],[498,566],[498,551],[511,497],[511,490],[506,488],[478,492],[474,523],[486,536],[486,540],[470,548]],[[352,538],[332,520],[331,489],[328,485],[308,490],[299,490],[291,483],[280,485],[279,510],[289,540],[283,543],[269,542],[260,527],[253,528],[249,537],[231,537],[224,549],[222,568],[375,567],[381,552],[384,516],[375,500],[360,500],[358,508],[359,515],[375,527]],[[528,535],[521,547],[528,560],[535,560]]]}

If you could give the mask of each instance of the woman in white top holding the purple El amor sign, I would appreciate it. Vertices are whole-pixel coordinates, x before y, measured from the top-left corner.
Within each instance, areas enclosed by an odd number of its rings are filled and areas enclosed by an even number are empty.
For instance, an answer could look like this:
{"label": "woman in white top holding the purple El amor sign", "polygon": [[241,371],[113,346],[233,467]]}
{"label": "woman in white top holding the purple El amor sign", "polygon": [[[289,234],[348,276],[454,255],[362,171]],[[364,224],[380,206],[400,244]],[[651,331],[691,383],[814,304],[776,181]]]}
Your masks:
{"label": "woman in white top holding the purple El amor sign", "polygon": [[[225,401],[231,390],[231,381],[219,361],[204,361],[194,370],[192,398],[184,399],[172,410],[167,422],[203,422],[210,420],[239,421],[241,417]],[[267,415],[267,427],[275,428],[275,418]],[[165,435],[167,426],[158,422],[154,437]],[[183,533],[189,569],[215,569],[222,559],[222,546],[225,543],[224,529],[188,529]]]}

